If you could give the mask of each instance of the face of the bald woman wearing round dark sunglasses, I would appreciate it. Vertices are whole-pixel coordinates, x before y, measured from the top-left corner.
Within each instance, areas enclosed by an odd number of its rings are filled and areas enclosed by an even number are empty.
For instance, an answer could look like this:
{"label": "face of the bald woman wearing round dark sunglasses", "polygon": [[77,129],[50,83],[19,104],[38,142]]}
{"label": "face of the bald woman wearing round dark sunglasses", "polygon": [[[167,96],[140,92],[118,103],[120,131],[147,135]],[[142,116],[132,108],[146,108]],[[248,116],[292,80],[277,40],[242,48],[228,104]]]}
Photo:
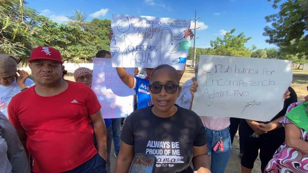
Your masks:
{"label": "face of the bald woman wearing round dark sunglasses", "polygon": [[[179,82],[177,74],[170,73],[167,68],[156,70],[155,74],[151,77],[150,84],[169,85],[169,93],[171,89],[170,86],[177,85]],[[171,116],[175,113],[173,107],[179,95],[179,90],[178,88],[174,90],[176,90],[174,94],[169,94],[166,92],[166,86],[163,86],[158,94],[153,94],[152,91],[150,91],[154,105],[153,111],[155,111],[155,113],[158,113],[161,116]]]}

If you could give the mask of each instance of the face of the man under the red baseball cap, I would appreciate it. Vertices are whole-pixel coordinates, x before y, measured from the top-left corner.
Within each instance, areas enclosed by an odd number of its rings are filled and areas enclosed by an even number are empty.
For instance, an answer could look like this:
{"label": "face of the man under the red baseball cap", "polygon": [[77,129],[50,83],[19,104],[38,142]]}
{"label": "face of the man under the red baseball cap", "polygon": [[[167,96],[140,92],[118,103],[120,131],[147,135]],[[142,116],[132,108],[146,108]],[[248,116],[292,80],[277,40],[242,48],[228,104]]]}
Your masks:
{"label": "face of the man under the red baseball cap", "polygon": [[62,80],[64,66],[57,61],[35,60],[29,63],[29,67],[37,84],[53,86]]}

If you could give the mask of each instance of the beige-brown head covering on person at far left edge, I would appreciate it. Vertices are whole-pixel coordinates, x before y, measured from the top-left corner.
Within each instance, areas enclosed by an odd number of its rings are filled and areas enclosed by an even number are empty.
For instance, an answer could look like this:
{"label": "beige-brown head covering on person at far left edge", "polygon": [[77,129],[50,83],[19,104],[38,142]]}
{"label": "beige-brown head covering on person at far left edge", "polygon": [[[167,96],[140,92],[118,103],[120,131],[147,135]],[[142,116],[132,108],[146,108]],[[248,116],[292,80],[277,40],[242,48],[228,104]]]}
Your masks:
{"label": "beige-brown head covering on person at far left edge", "polygon": [[0,54],[0,77],[13,76],[17,72],[18,57],[8,54]]}

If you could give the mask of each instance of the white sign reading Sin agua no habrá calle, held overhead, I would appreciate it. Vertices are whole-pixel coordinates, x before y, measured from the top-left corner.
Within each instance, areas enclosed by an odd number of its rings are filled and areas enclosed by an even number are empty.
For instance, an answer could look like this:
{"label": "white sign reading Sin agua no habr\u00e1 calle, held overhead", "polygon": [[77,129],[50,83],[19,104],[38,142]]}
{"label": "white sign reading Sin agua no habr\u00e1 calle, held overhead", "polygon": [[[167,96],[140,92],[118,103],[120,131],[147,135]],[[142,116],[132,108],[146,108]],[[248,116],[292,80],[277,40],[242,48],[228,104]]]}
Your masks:
{"label": "white sign reading Sin agua no habr\u00e1 calle, held overhead", "polygon": [[112,67],[169,64],[182,70],[190,48],[189,26],[188,19],[113,15]]}

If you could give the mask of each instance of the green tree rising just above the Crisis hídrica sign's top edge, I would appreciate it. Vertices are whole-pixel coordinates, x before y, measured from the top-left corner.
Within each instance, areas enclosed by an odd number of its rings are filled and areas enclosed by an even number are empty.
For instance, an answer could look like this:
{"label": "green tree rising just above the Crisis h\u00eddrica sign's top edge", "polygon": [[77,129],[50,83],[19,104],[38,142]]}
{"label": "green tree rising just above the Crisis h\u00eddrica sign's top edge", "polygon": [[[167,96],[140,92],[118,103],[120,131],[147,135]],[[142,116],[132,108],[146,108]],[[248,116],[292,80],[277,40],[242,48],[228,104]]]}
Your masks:
{"label": "green tree rising just above the Crisis h\u00eddrica sign's top edge", "polygon": [[[217,37],[216,40],[211,40],[212,49],[209,51],[210,55],[224,55],[236,57],[250,57],[252,50],[245,47],[245,43],[251,39],[246,37],[244,33],[233,35],[236,29],[227,32],[223,38]],[[255,49],[255,47],[253,47]]]}

